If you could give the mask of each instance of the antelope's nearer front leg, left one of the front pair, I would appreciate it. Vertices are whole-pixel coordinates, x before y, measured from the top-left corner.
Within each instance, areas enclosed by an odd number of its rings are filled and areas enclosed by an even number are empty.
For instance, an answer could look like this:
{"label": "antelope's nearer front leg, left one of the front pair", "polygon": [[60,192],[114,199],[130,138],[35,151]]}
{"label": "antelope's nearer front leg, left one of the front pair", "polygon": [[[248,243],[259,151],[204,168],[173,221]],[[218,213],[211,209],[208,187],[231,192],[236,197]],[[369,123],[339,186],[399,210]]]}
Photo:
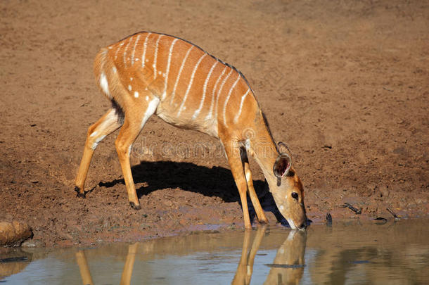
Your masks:
{"label": "antelope's nearer front leg, left one of the front pair", "polygon": [[234,142],[224,144],[226,156],[228,158],[229,166],[231,167],[232,176],[236,181],[238,193],[241,199],[241,208],[243,208],[243,219],[245,229],[252,229],[250,223],[248,198],[246,193],[248,191],[248,184],[245,179],[243,163],[241,162],[240,148]]}

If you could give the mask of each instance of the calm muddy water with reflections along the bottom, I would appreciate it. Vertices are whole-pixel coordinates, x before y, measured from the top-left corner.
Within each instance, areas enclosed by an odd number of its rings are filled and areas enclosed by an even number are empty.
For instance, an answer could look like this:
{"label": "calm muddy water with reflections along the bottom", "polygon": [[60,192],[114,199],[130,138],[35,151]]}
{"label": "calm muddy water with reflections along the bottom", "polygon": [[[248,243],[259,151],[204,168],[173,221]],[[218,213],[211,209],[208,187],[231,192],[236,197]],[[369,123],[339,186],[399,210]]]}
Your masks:
{"label": "calm muddy water with reflections along the bottom", "polygon": [[429,220],[0,251],[5,284],[429,284]]}

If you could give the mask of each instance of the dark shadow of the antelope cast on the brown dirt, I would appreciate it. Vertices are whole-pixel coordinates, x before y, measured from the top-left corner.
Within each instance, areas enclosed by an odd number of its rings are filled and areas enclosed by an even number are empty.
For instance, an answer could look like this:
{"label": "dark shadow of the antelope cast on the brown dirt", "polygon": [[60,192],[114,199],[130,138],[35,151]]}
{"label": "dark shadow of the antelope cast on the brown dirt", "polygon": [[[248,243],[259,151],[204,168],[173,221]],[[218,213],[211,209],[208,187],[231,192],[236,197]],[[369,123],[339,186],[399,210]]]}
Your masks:
{"label": "dark shadow of the antelope cast on the brown dirt", "polygon": [[[159,189],[182,189],[203,194],[204,196],[217,196],[224,202],[240,202],[240,196],[236,183],[233,180],[231,170],[224,167],[214,166],[212,168],[196,165],[193,163],[173,161],[142,161],[139,165],[132,167],[134,183],[144,183],[145,186],[136,188],[139,198],[151,194]],[[98,186],[112,187],[116,184],[124,184],[124,179],[115,179],[111,182],[100,182]],[[288,222],[278,211],[271,193],[268,191],[267,182],[262,180],[253,181],[257,196],[264,211],[273,213],[278,222],[288,225]],[[248,197],[250,219],[255,217],[252,201]]]}

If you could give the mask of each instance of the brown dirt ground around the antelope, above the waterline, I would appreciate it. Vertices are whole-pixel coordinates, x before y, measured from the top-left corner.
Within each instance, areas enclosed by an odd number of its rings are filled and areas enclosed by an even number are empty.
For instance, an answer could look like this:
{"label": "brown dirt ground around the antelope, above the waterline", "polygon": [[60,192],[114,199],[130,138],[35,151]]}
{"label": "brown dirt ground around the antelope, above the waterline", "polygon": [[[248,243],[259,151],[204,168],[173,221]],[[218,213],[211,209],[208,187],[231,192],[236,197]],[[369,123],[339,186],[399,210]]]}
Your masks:
{"label": "brown dirt ground around the antelope, above the waterline", "polygon": [[309,219],[357,217],[345,202],[363,217],[426,216],[428,27],[428,1],[1,1],[0,220],[28,222],[46,246],[243,227],[219,143],[155,116],[132,150],[142,209],[127,202],[117,132],[97,148],[87,198],[76,197],[87,128],[110,107],[94,56],[140,30],[188,39],[243,72],[274,139],[290,146]]}

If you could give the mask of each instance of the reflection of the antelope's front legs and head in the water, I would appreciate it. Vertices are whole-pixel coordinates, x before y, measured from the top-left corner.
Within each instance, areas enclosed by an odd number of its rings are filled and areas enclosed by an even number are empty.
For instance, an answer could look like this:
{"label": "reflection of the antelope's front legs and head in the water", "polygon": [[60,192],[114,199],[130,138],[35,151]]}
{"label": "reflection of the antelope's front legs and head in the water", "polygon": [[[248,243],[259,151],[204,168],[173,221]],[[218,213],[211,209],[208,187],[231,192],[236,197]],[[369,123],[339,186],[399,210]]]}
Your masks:
{"label": "reflection of the antelope's front legs and head in the water", "polygon": [[[255,255],[260,248],[262,238],[267,227],[259,227],[250,247],[250,234],[252,231],[245,230],[243,239],[243,251],[238,263],[236,276],[231,284],[250,284],[252,278],[253,263]],[[278,248],[276,258],[271,267],[264,284],[299,284],[305,267],[305,245],[307,232],[292,230],[283,244]]]}

